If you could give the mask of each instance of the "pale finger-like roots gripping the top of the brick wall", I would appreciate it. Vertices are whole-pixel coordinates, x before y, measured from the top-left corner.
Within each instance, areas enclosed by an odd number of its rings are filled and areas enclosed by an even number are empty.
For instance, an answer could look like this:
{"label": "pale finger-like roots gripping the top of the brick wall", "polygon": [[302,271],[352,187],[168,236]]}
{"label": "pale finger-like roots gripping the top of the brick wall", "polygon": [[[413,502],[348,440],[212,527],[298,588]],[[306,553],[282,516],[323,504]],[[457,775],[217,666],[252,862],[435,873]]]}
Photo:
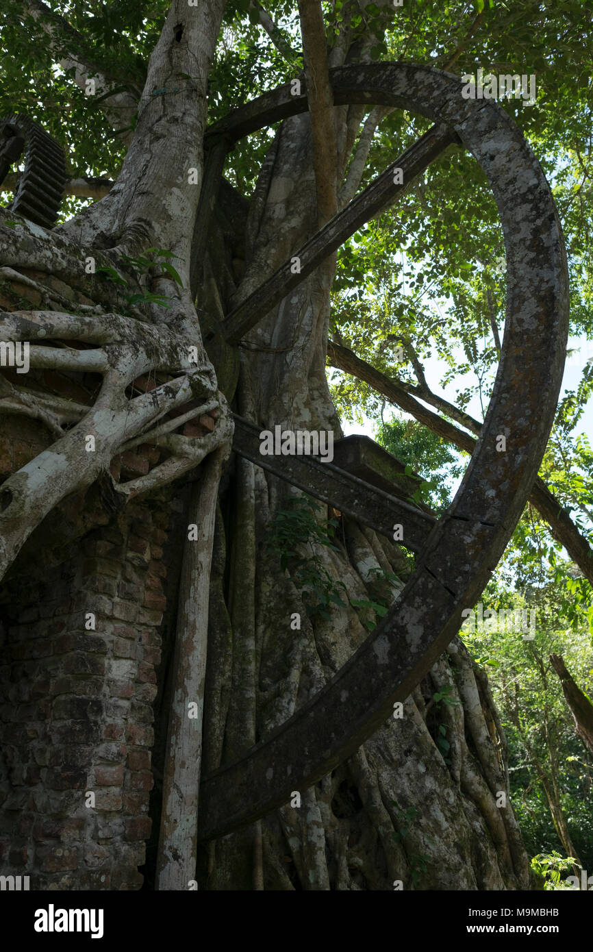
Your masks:
{"label": "pale finger-like roots gripping the top of the brick wall", "polygon": [[[172,482],[218,446],[230,445],[232,418],[199,332],[191,341],[184,331],[117,313],[0,314],[0,347],[9,363],[12,357],[13,364],[26,362],[33,369],[102,378],[91,406],[3,383],[0,411],[40,420],[54,442],[0,489],[0,578],[53,506],[109,473],[119,453],[148,443],[168,454],[138,479],[120,484],[111,477],[114,492],[124,501]],[[138,378],[148,378],[151,388],[137,393],[132,385]],[[211,433],[188,437],[178,432],[211,411],[218,414]]]}

